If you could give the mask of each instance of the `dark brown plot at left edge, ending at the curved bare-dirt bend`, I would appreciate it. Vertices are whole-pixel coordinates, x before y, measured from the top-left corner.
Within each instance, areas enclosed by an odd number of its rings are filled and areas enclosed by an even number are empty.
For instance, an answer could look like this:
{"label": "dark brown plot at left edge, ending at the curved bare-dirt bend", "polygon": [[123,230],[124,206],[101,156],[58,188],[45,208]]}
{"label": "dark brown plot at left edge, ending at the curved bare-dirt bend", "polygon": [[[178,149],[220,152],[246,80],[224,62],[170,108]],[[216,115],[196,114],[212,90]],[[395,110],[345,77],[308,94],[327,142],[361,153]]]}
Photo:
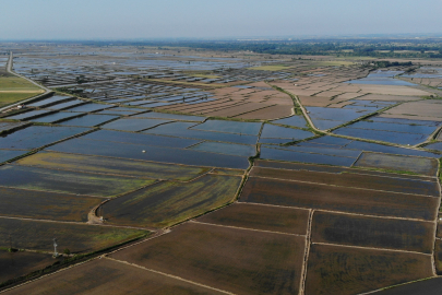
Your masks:
{"label": "dark brown plot at left edge, ending at the curved bare-dirt bend", "polygon": [[0,215],[86,222],[87,213],[101,201],[101,198],[0,188]]}

